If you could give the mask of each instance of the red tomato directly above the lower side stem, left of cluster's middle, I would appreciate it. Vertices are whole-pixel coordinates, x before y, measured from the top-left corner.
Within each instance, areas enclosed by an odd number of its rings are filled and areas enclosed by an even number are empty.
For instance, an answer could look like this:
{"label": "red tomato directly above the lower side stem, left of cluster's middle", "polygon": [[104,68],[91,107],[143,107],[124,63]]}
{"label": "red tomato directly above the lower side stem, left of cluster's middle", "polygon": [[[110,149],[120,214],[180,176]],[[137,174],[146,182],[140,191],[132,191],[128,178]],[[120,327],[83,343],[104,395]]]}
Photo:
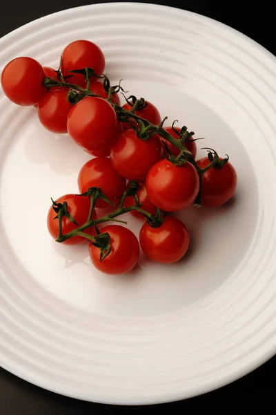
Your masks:
{"label": "red tomato directly above the lower side stem, left of cluster's middle", "polygon": [[[88,187],[100,187],[106,198],[115,203],[126,190],[126,179],[120,176],[110,162],[110,158],[95,157],[89,160],[79,172],[79,192],[84,193]],[[98,199],[96,207],[106,208],[107,202]]]}

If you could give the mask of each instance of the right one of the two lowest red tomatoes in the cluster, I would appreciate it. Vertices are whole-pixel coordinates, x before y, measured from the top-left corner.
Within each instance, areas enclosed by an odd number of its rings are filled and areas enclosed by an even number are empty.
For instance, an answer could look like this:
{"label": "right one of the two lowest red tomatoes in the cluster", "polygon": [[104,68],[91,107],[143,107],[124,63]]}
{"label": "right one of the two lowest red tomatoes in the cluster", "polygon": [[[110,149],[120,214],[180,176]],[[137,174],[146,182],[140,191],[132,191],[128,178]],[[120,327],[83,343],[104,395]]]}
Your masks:
{"label": "right one of the two lowest red tomatoes in the cluster", "polygon": [[139,234],[141,250],[155,262],[171,264],[186,254],[190,237],[184,223],[172,216],[165,216],[158,228],[152,228],[147,222]]}

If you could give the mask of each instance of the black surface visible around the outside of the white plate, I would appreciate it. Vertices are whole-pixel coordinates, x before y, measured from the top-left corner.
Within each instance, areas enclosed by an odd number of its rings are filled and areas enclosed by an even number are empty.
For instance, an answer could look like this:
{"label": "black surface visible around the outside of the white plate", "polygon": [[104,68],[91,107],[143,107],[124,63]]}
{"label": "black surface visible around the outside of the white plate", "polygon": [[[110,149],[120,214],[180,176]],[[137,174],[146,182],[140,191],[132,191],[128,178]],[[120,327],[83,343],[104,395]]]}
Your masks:
{"label": "black surface visible around the outside of the white plate", "polygon": [[[107,1],[106,1],[107,2]],[[98,1],[98,3],[106,3]],[[93,1],[47,0],[21,1],[1,5],[0,37],[39,17],[66,8],[83,6]],[[200,13],[241,31],[276,55],[275,20],[268,0],[253,3],[247,0],[183,0],[144,1],[175,6]],[[274,21],[273,21],[274,20]],[[1,50],[0,50],[1,53]],[[113,414],[205,414],[212,411],[223,414],[233,407],[239,414],[242,408],[260,405],[262,414],[273,413],[276,358],[231,385],[208,394],[177,403],[143,407],[119,407],[87,403],[45,391],[0,369],[0,414],[1,415],[113,415]],[[273,376],[274,375],[274,376]],[[275,403],[275,400],[274,400]]]}

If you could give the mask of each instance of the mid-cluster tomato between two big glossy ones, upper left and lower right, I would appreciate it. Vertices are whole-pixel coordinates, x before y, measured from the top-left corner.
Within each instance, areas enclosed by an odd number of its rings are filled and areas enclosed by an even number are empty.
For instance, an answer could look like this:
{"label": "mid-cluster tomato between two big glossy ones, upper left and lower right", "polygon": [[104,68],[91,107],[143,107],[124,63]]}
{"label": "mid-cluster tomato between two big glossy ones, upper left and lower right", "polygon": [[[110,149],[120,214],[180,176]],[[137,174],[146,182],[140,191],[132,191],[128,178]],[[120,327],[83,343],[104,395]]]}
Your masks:
{"label": "mid-cluster tomato between two big glossy ones, upper left and lower right", "polygon": [[123,131],[111,147],[110,158],[117,172],[130,180],[146,178],[152,165],[161,160],[161,142],[157,136],[137,138],[133,129]]}

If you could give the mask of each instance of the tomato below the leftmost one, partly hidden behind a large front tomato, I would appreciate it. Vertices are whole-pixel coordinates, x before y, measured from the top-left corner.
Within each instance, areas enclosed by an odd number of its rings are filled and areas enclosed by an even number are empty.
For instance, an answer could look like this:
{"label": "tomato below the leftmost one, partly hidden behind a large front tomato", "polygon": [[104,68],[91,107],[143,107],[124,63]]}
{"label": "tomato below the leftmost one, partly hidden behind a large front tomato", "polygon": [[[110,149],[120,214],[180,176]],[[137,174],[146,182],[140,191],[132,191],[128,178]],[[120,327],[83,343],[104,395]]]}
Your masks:
{"label": "tomato below the leftmost one, partly hidden behind a large front tomato", "polygon": [[72,104],[67,100],[67,93],[65,89],[50,90],[39,102],[39,120],[53,133],[67,133],[67,118],[72,109]]}

